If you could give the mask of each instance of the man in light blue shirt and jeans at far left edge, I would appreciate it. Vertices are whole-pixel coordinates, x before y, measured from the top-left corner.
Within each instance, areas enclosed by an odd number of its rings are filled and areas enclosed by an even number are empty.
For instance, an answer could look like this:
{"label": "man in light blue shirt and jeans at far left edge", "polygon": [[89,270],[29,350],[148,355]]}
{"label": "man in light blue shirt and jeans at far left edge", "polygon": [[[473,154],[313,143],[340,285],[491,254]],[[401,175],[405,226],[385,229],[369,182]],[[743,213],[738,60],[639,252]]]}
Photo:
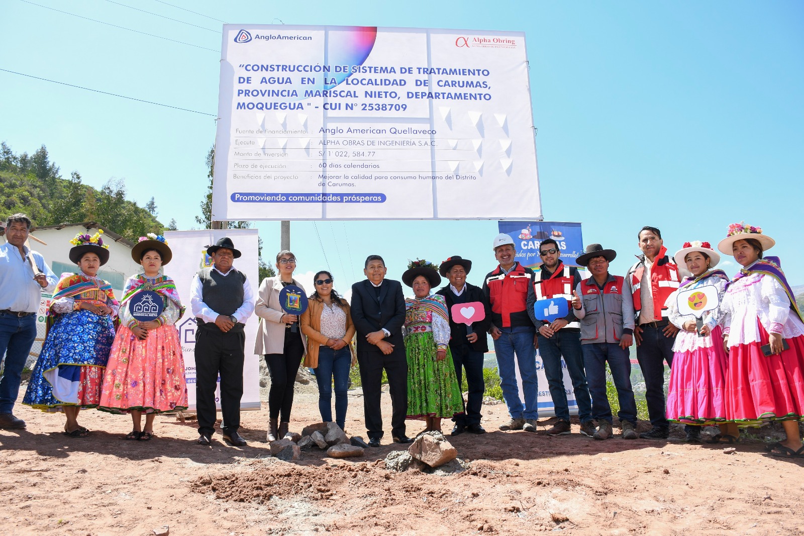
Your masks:
{"label": "man in light blue shirt and jeans at far left edge", "polygon": [[[42,291],[58,279],[42,255],[26,247],[31,220],[22,213],[6,220],[6,243],[0,245],[0,429],[18,430],[25,421],[14,417],[14,402],[28,353],[36,338],[36,311]],[[5,358],[3,358],[5,354]]]}

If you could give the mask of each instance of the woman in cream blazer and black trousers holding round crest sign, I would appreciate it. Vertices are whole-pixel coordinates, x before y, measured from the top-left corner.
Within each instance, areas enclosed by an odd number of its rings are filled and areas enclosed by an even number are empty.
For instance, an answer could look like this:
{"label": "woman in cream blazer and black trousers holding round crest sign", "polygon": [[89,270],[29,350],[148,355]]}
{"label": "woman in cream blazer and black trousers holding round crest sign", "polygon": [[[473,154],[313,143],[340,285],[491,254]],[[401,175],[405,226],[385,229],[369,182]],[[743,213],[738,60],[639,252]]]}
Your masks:
{"label": "woman in cream blazer and black trousers holding round crest sign", "polygon": [[301,357],[306,351],[306,339],[301,330],[293,332],[290,329],[298,322],[298,316],[288,315],[279,307],[279,291],[282,287],[295,285],[304,291],[301,283],[293,278],[293,270],[296,270],[296,257],[289,251],[280,251],[277,254],[278,275],[263,279],[254,307],[254,314],[260,317],[254,353],[265,356],[271,377],[268,395],[269,443],[284,438],[288,433],[293,384]]}

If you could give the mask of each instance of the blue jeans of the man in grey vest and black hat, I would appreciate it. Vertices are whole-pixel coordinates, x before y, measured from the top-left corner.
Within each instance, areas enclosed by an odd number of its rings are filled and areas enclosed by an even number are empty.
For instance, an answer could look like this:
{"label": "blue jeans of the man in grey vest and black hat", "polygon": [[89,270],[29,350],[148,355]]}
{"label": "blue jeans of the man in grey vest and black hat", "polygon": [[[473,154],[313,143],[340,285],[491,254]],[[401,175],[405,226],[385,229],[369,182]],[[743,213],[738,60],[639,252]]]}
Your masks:
{"label": "blue jeans of the man in grey vest and black hat", "polygon": [[617,417],[620,422],[637,423],[637,402],[634,390],[631,389],[631,360],[627,349],[619,344],[593,343],[581,344],[584,351],[586,379],[589,380],[589,394],[592,395],[592,417],[598,422],[606,420],[611,423],[611,406],[605,393],[605,364],[609,362],[609,370],[617,388],[617,400],[620,410]]}

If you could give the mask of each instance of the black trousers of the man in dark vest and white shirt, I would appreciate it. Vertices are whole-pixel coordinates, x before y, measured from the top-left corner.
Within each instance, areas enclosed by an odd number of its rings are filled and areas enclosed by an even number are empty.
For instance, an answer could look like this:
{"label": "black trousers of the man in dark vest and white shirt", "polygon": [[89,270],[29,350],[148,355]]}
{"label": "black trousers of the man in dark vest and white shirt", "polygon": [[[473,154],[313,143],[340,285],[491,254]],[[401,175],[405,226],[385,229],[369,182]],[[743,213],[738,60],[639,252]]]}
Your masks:
{"label": "black trousers of the man in dark vest and white shirt", "polygon": [[243,331],[221,332],[214,324],[195,334],[195,408],[199,433],[215,433],[215,387],[220,374],[220,411],[224,434],[240,427],[243,397],[243,361],[246,336]]}

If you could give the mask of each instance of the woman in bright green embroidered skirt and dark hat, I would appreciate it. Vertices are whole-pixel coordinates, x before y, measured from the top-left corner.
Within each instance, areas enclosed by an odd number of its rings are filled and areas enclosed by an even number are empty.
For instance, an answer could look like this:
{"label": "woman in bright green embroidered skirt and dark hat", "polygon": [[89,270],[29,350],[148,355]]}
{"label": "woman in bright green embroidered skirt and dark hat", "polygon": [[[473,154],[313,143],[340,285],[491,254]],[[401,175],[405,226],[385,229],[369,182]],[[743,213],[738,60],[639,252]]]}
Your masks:
{"label": "woman in bright green embroidered skirt and dark hat", "polygon": [[416,260],[402,274],[414,298],[405,299],[404,348],[408,357],[408,418],[424,419],[425,431],[441,431],[441,418],[463,413],[461,386],[449,353],[449,313],[444,296],[430,294],[441,282],[438,268]]}

